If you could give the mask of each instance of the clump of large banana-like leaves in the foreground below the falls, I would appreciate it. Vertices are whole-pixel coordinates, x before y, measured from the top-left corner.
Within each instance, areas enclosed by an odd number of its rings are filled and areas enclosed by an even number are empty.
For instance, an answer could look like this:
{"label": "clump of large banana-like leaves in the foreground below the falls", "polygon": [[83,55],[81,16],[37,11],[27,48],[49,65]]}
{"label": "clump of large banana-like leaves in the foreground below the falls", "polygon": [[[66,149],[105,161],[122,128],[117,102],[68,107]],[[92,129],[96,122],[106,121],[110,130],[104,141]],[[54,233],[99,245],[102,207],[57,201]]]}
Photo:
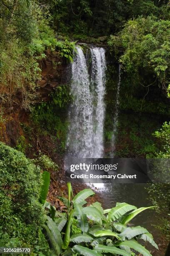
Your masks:
{"label": "clump of large banana-like leaves in the foreground below the falls", "polygon": [[[143,255],[151,256],[150,252],[138,243],[139,238],[150,242],[158,249],[148,230],[140,226],[130,227],[128,225],[137,214],[153,207],[137,209],[133,205],[117,203],[112,209],[103,210],[99,202],[83,207],[82,205],[86,204],[85,199],[94,195],[94,192],[91,189],[83,189],[73,197],[70,183],[67,185],[68,212],[62,214],[56,211],[54,219],[48,216],[44,226],[46,231],[49,228],[47,236],[57,255],[63,253],[63,250],[64,255],[67,255],[72,249],[77,255],[116,253],[128,256],[131,255],[130,248],[132,248]],[[47,203],[45,205],[47,206]],[[62,220],[65,220],[65,223],[59,229],[58,223]],[[78,228],[75,229],[75,226]],[[78,230],[79,233],[77,233]],[[57,240],[56,237],[58,237]],[[56,241],[55,246],[53,241]]]}

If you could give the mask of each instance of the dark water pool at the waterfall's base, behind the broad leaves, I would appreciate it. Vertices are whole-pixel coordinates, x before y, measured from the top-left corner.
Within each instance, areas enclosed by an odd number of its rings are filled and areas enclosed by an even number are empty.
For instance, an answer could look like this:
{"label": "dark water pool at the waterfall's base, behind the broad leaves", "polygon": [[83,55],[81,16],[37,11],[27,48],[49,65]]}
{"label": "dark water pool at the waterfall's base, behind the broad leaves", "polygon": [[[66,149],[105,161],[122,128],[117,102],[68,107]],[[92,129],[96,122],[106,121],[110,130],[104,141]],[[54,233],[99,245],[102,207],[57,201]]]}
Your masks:
{"label": "dark water pool at the waterfall's base, behind the broad leaves", "polygon": [[[148,200],[148,192],[146,187],[150,184],[96,184],[96,192],[100,194],[102,198],[102,206],[104,209],[112,208],[116,202],[126,202],[131,205],[139,207],[151,206],[152,203]],[[131,223],[134,225],[140,225],[146,228],[153,236],[158,236],[158,230],[153,227],[157,223],[158,217],[155,214],[155,210],[148,209],[137,215]]]}

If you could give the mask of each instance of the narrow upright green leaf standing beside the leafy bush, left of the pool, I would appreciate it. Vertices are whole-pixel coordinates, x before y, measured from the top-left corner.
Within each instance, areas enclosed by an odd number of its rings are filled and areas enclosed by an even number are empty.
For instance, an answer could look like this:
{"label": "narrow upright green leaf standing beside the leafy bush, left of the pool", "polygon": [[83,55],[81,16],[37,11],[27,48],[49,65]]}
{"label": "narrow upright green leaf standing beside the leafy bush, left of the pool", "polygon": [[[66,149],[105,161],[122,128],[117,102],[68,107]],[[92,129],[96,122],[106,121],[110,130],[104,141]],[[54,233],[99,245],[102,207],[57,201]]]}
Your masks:
{"label": "narrow upright green leaf standing beside the leafy bush, left of the pool", "polygon": [[42,173],[42,181],[43,183],[42,183],[41,192],[40,192],[40,203],[44,205],[47,198],[48,189],[50,186],[50,172],[44,171]]}

